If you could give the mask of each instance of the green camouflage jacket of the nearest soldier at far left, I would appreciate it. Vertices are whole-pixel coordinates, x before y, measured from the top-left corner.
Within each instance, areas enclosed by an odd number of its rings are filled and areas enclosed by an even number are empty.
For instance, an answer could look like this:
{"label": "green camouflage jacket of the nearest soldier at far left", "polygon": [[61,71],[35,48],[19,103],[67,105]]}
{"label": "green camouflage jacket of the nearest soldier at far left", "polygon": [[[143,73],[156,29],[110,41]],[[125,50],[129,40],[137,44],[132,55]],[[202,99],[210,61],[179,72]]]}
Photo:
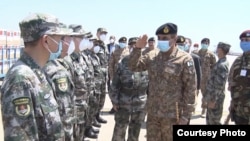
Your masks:
{"label": "green camouflage jacket of the nearest soldier at far left", "polygon": [[5,140],[64,141],[59,104],[41,68],[26,53],[1,88]]}

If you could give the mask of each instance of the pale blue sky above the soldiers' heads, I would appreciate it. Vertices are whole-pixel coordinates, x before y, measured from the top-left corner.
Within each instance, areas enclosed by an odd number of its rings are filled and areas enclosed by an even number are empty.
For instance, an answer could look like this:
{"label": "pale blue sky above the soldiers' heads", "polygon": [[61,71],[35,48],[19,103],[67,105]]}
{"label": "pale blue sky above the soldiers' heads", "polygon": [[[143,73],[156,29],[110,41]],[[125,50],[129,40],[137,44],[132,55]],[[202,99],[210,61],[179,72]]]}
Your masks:
{"label": "pale blue sky above the soldiers' heads", "polygon": [[29,13],[43,12],[67,25],[81,24],[94,34],[105,27],[108,36],[118,40],[155,36],[160,25],[173,22],[178,34],[193,42],[208,37],[210,48],[224,41],[239,52],[239,35],[250,29],[249,5],[249,0],[2,0],[0,28],[19,30],[18,23]]}

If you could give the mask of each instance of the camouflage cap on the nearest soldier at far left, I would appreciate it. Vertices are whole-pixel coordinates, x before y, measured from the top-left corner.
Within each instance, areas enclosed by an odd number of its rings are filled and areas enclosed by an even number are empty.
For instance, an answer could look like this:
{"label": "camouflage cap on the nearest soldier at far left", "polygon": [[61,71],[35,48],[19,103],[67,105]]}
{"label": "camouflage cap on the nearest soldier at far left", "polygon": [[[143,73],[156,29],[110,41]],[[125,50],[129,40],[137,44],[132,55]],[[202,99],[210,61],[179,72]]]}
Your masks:
{"label": "camouflage cap on the nearest soldier at far left", "polygon": [[45,34],[68,34],[59,27],[58,18],[45,13],[30,14],[19,23],[19,27],[24,42],[36,41]]}

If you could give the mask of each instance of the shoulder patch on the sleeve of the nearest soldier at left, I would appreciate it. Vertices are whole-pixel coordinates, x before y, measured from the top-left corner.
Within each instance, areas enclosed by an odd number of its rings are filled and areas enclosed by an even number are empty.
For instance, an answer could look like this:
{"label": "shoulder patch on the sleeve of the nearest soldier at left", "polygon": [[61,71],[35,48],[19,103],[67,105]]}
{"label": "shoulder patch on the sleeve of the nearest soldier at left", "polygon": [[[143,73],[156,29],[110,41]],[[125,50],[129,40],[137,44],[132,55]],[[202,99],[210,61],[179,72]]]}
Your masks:
{"label": "shoulder patch on the sleeve of the nearest soldier at left", "polygon": [[26,117],[30,114],[30,98],[19,97],[12,101],[15,106],[15,112],[20,117]]}

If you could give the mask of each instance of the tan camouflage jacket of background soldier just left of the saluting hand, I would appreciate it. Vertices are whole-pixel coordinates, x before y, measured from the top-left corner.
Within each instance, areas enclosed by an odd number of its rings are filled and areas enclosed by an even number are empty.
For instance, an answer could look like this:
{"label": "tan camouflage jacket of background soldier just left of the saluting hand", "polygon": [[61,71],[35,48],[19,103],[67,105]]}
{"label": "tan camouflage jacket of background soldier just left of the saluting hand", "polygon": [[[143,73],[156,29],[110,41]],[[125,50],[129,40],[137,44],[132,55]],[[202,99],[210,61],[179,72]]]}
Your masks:
{"label": "tan camouflage jacket of background soldier just left of the saluting hand", "polygon": [[117,69],[117,65],[120,59],[129,54],[129,48],[120,48],[119,46],[115,49],[115,51],[111,54],[109,60],[108,73],[110,78],[112,79],[114,76],[114,72]]}

